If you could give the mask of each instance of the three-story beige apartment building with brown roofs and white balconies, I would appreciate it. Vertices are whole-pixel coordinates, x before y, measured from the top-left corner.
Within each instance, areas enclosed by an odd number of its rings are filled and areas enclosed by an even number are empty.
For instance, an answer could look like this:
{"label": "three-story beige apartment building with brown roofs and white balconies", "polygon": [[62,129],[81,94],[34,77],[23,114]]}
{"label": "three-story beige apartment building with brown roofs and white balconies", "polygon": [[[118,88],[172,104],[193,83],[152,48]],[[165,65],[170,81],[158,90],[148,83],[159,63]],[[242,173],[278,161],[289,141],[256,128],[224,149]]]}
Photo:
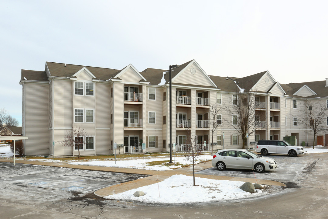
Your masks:
{"label": "three-story beige apartment building with brown roofs and white balconies", "polygon": [[[317,87],[315,82],[280,85],[268,71],[243,78],[209,76],[192,60],[172,69],[172,142],[177,151],[186,150],[187,130],[198,144],[206,141],[206,149],[242,146],[234,127],[236,118],[225,110],[217,115],[220,126],[213,138],[215,144],[209,144],[210,107],[236,103],[239,82],[247,83],[256,94],[256,132],[249,142],[286,135],[297,135],[301,142],[306,140],[305,133],[310,139],[309,130],[295,126],[291,115],[297,112],[292,103],[304,97],[326,100],[328,90],[322,82],[322,91],[315,92],[316,88],[309,87]],[[26,155],[77,155],[78,147],[81,155],[140,153],[143,142],[148,152],[169,150],[168,70],[139,72],[131,64],[115,70],[46,62],[44,71],[22,70],[20,84],[23,135],[29,136],[24,142]],[[86,143],[63,146],[60,141],[74,127],[86,131]]]}

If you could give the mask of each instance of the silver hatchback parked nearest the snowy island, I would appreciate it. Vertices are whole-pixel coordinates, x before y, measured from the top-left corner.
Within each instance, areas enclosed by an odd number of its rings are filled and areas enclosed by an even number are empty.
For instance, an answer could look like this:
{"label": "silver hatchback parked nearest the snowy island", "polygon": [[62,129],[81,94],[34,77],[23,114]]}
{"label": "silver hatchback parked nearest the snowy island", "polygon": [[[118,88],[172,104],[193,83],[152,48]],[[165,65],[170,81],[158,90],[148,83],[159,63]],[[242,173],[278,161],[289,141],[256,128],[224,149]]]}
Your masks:
{"label": "silver hatchback parked nearest the snowy island", "polygon": [[212,166],[218,170],[232,169],[255,169],[262,173],[265,170],[277,168],[277,162],[268,157],[259,156],[246,149],[219,150],[213,155]]}

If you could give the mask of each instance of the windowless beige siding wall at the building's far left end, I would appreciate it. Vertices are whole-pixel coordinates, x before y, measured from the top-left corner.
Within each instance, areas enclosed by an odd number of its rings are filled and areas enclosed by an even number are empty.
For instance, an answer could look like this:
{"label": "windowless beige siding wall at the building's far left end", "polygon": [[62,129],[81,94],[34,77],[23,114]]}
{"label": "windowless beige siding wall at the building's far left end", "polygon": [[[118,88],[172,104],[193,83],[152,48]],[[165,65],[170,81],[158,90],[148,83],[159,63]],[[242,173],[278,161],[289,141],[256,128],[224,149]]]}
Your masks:
{"label": "windowless beige siding wall at the building's far left end", "polygon": [[25,83],[25,155],[49,154],[49,86]]}

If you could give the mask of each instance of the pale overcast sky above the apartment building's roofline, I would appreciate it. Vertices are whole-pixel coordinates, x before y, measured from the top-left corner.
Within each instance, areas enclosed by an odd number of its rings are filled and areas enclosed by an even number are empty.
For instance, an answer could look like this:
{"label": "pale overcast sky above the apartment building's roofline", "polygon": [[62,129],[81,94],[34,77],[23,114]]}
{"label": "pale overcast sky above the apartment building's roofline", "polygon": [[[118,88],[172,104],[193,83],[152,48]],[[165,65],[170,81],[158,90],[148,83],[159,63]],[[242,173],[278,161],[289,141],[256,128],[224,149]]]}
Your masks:
{"label": "pale overcast sky above the apartment building's roofline", "polygon": [[[0,1],[1,107],[22,120],[21,69],[138,70],[195,59],[208,75],[328,75],[327,1]],[[37,106],[36,106],[37,107]]]}

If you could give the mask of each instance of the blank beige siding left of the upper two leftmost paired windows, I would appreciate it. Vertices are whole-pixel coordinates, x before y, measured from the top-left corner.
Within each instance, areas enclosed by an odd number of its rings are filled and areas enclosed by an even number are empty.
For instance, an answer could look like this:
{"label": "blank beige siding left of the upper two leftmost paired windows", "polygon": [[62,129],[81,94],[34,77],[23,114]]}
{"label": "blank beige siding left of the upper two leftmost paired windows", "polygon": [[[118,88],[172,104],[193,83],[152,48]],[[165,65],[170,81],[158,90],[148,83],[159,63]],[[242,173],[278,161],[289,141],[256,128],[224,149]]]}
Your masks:
{"label": "blank beige siding left of the upper two leftmost paired windows", "polygon": [[[72,81],[55,80],[54,83],[54,127],[72,128]],[[56,139],[59,141],[61,139]]]}

